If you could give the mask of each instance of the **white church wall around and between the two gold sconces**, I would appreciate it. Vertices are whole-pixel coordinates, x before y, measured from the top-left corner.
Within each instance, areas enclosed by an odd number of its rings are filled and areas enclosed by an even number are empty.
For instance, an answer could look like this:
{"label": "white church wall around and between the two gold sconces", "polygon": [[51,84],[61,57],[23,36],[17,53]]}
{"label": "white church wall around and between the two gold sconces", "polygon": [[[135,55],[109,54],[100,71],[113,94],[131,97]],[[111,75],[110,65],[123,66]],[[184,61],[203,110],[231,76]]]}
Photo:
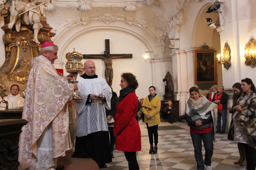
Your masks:
{"label": "white church wall around and between the two gold sconces", "polygon": [[222,6],[225,26],[221,33],[221,45],[223,48],[228,42],[231,48],[231,69],[223,71],[223,84],[231,88],[235,82],[246,77],[256,82],[254,74],[251,74],[255,68],[244,63],[244,47],[251,38],[256,38],[256,4],[252,0],[226,1]]}

